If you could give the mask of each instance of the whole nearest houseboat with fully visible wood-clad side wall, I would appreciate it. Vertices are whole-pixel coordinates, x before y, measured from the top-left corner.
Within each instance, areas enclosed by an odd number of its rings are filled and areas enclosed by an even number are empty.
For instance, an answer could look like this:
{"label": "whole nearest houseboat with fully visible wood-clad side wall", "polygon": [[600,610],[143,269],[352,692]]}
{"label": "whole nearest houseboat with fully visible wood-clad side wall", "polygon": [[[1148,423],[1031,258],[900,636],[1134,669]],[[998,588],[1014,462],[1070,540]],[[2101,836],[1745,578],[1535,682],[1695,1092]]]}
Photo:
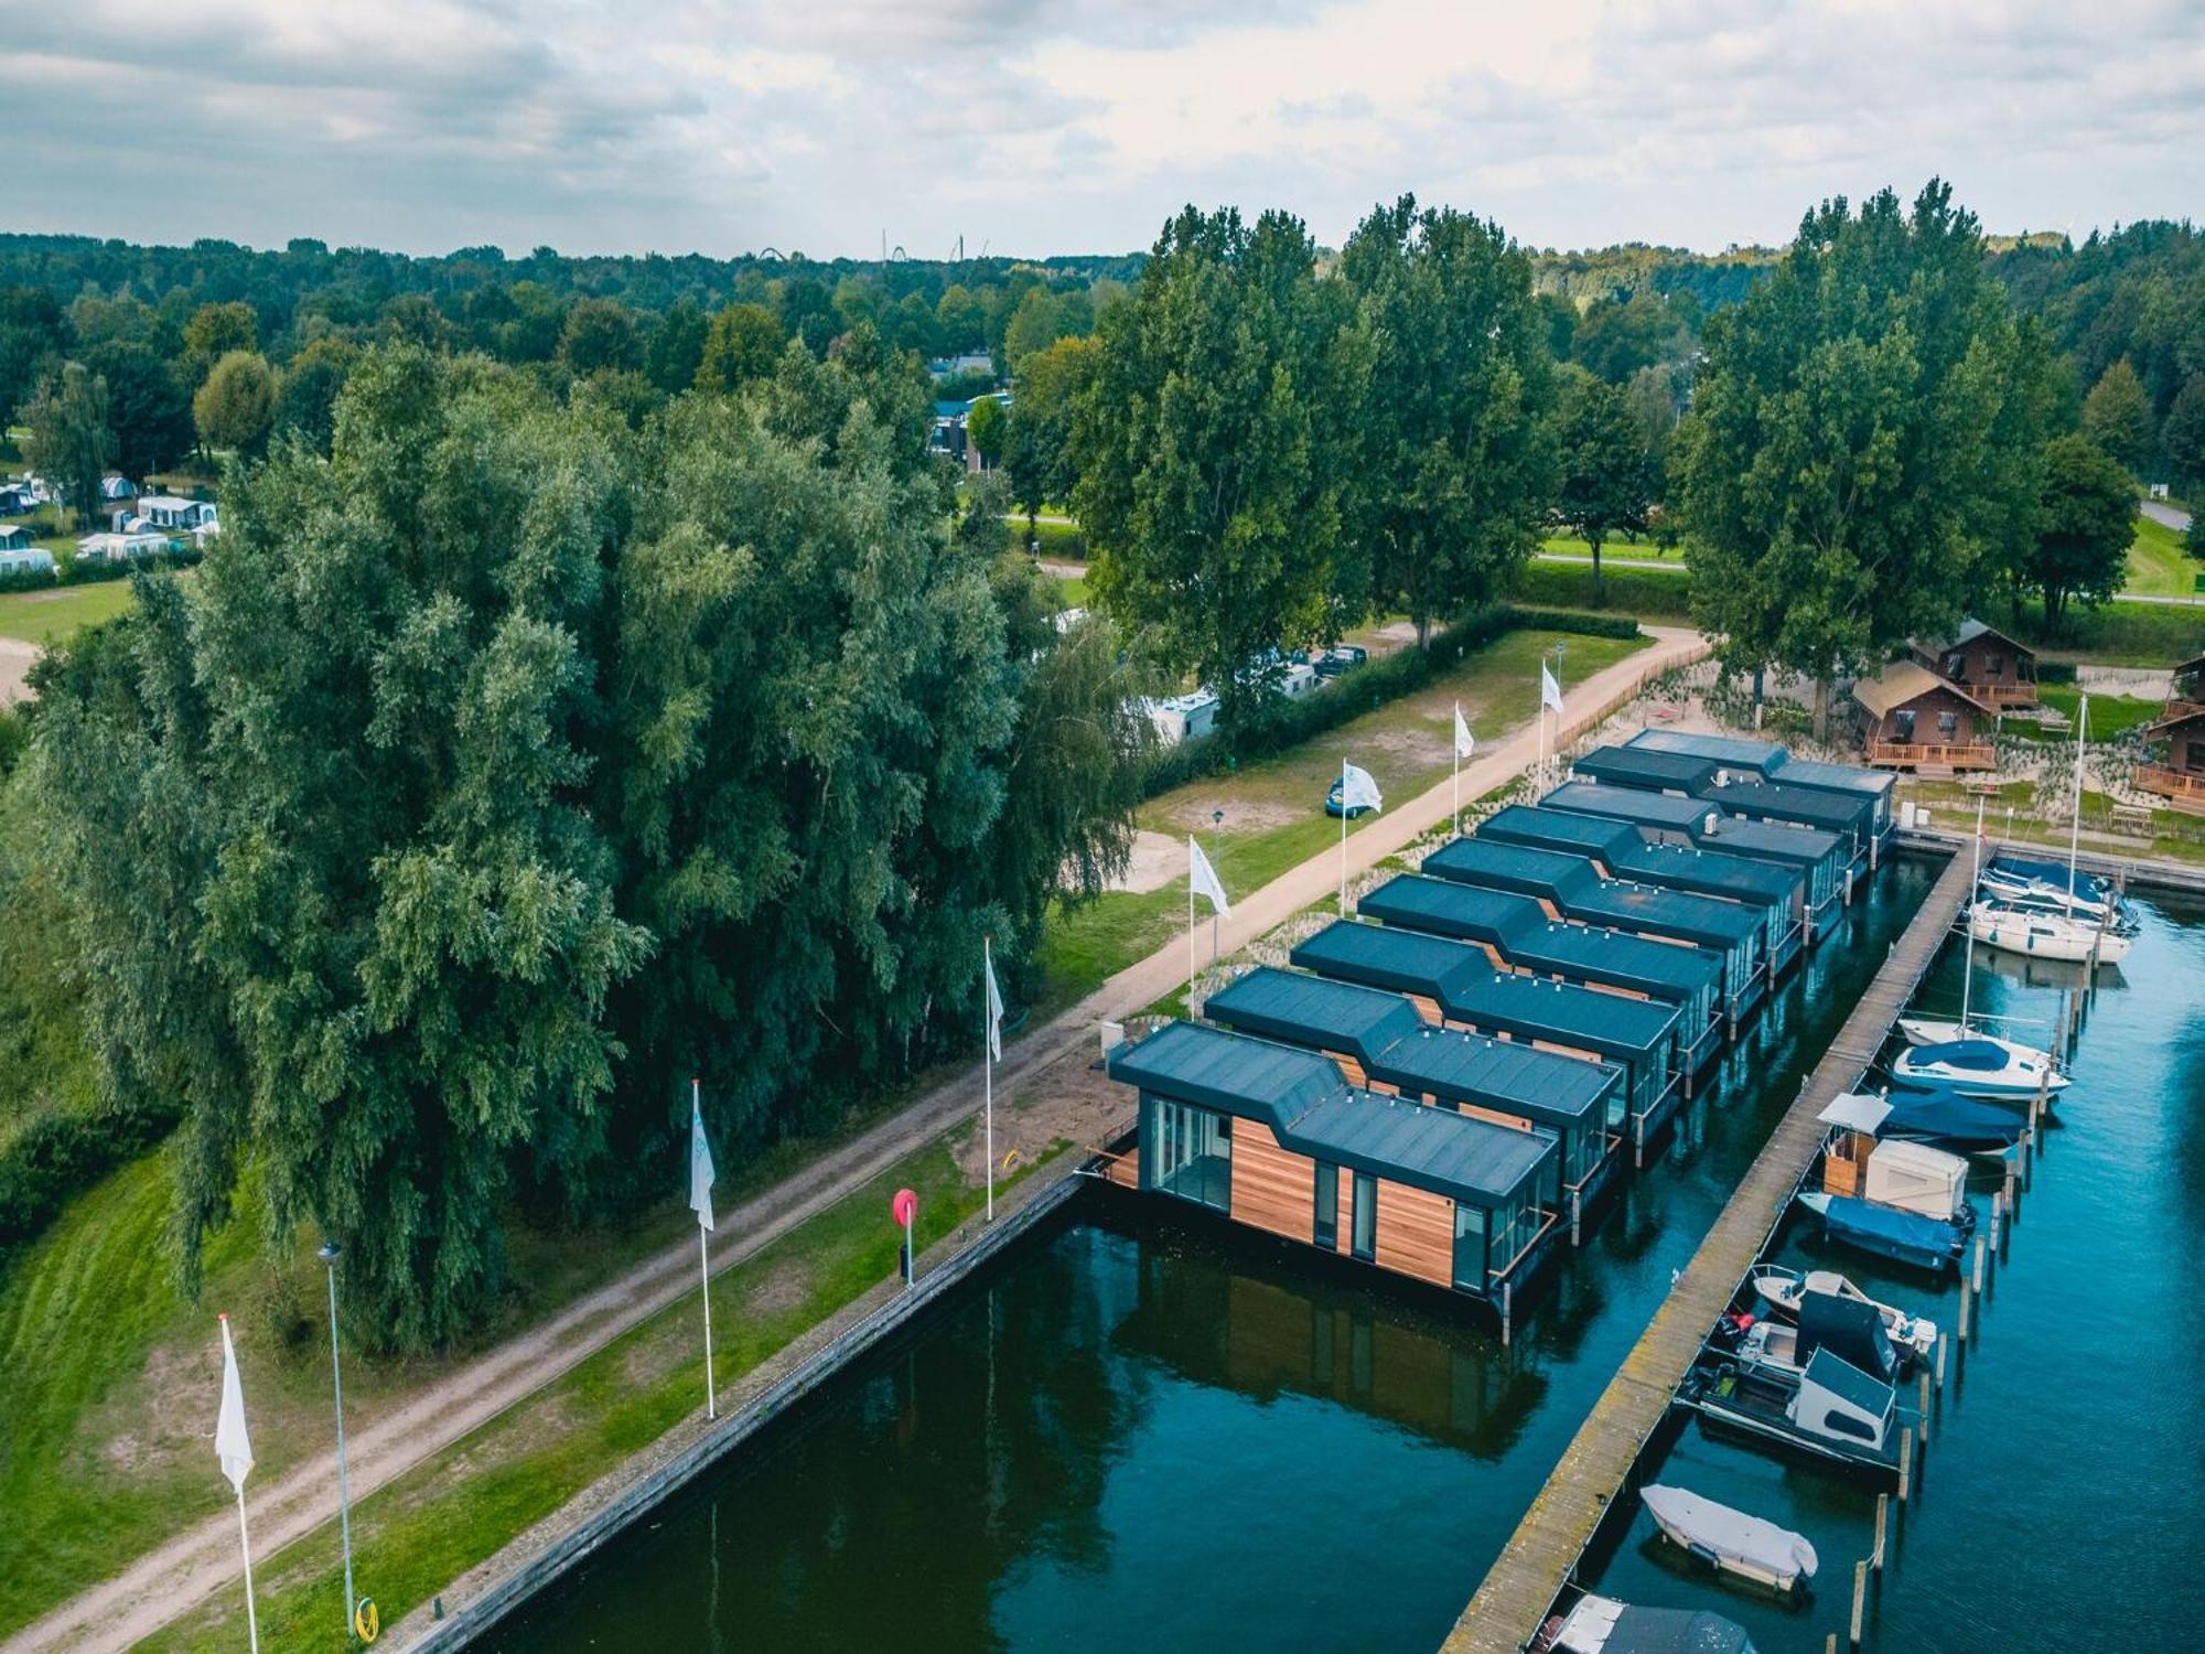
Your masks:
{"label": "whole nearest houseboat with fully visible wood-clad side wall", "polygon": [[1365,1092],[1316,1052],[1186,1021],[1116,1048],[1109,1074],[1140,1094],[1144,1191],[1504,1317],[1552,1248],[1550,1138]]}

